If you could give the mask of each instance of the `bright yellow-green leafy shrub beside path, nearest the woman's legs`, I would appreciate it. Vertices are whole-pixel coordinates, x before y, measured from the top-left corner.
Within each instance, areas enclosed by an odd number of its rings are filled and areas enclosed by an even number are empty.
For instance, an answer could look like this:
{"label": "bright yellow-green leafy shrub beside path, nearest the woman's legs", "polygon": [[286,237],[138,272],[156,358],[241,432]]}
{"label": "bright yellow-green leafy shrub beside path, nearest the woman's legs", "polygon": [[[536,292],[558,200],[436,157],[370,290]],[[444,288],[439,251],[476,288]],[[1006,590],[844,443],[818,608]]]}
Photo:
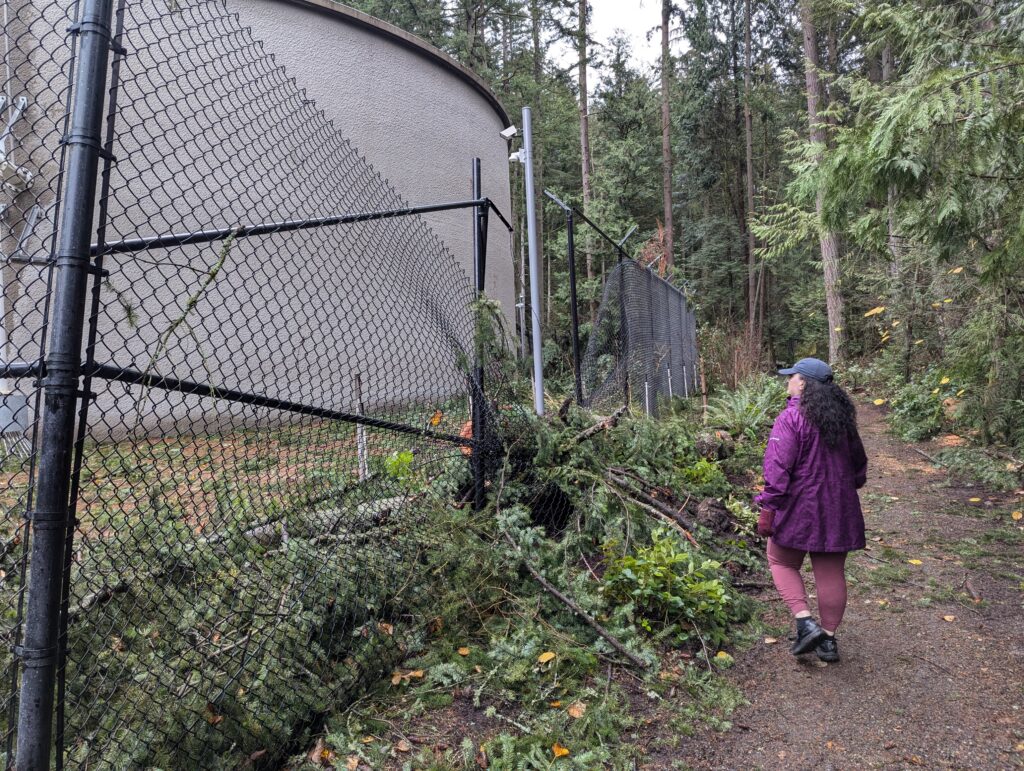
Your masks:
{"label": "bright yellow-green leafy shrub beside path, nearest the woman's legs", "polygon": [[706,645],[717,648],[735,615],[735,601],[720,567],[659,527],[651,532],[650,546],[611,562],[604,594],[632,608],[636,623],[650,634],[677,642],[698,635]]}

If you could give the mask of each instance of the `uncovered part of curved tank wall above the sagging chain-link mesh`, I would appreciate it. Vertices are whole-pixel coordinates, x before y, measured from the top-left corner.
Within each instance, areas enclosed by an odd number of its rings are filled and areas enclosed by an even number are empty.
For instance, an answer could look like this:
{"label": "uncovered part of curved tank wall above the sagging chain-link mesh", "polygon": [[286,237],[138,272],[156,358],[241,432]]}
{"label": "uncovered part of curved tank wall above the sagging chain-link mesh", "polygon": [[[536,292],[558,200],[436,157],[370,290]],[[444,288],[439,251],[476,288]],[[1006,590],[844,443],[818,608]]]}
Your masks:
{"label": "uncovered part of curved tank wall above the sagging chain-link mesh", "polygon": [[[470,159],[483,195],[511,219],[508,125],[475,75],[418,38],[328,0],[228,0],[338,130],[411,204],[470,198]],[[472,272],[467,212],[431,214],[430,228]],[[492,217],[487,294],[511,319],[511,245]]]}

